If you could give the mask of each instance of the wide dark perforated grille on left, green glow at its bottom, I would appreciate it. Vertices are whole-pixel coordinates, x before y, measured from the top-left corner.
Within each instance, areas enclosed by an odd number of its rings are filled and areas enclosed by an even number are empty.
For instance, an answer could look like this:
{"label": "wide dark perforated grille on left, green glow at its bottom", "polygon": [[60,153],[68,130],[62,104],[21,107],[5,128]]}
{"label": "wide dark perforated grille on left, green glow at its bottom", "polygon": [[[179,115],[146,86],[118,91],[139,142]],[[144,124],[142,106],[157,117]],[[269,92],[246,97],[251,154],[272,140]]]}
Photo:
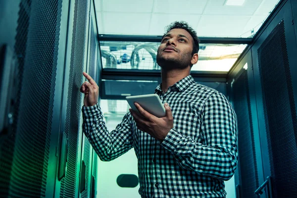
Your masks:
{"label": "wide dark perforated grille on left, green glow at its bottom", "polygon": [[4,197],[45,197],[60,18],[61,0],[20,2],[15,122],[1,145]]}

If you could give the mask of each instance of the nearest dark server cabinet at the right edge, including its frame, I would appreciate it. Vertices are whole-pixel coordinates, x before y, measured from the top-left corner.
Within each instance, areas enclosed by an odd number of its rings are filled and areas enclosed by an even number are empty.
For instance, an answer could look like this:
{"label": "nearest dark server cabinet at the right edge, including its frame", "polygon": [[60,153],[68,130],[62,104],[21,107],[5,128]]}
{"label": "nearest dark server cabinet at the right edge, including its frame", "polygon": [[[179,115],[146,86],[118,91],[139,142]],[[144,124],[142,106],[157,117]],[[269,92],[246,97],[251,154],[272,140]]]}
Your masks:
{"label": "nearest dark server cabinet at the right edge, including its frame", "polygon": [[267,198],[297,197],[297,44],[292,2],[282,1],[251,49]]}

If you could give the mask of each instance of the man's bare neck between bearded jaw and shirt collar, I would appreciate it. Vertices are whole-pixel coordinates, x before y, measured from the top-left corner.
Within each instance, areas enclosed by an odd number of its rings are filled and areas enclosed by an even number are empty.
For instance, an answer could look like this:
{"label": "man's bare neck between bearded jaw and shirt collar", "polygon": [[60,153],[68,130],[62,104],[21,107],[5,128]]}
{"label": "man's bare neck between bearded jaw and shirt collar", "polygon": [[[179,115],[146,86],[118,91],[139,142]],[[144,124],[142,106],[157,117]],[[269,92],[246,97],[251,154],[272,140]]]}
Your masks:
{"label": "man's bare neck between bearded jaw and shirt collar", "polygon": [[181,79],[190,75],[190,67],[187,67],[183,70],[176,69],[176,70],[161,70],[162,76],[162,92],[167,92],[168,88],[174,85],[176,82],[180,81]]}

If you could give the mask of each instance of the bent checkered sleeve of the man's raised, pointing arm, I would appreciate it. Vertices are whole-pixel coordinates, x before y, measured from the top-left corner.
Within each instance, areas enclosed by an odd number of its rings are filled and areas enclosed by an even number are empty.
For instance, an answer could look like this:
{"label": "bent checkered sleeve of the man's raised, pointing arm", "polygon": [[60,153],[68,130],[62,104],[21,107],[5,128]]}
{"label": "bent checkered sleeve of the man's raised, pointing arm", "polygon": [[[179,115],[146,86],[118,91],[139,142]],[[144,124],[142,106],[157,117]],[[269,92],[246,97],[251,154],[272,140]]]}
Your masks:
{"label": "bent checkered sleeve of the man's raised, pointing arm", "polygon": [[83,106],[82,114],[83,132],[102,161],[113,160],[133,148],[131,114],[127,113],[110,133],[98,103]]}

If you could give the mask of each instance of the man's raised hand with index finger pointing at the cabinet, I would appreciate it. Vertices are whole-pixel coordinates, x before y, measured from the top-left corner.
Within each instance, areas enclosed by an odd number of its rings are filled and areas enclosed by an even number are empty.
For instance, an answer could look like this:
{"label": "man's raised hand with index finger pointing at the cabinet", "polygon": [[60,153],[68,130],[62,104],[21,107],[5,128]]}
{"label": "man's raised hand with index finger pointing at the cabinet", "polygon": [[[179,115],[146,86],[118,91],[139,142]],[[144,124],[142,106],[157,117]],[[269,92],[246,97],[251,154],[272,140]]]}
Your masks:
{"label": "man's raised hand with index finger pointing at the cabinet", "polygon": [[83,75],[89,81],[84,82],[80,88],[80,91],[85,94],[84,106],[94,106],[98,102],[99,87],[89,74],[83,72]]}

